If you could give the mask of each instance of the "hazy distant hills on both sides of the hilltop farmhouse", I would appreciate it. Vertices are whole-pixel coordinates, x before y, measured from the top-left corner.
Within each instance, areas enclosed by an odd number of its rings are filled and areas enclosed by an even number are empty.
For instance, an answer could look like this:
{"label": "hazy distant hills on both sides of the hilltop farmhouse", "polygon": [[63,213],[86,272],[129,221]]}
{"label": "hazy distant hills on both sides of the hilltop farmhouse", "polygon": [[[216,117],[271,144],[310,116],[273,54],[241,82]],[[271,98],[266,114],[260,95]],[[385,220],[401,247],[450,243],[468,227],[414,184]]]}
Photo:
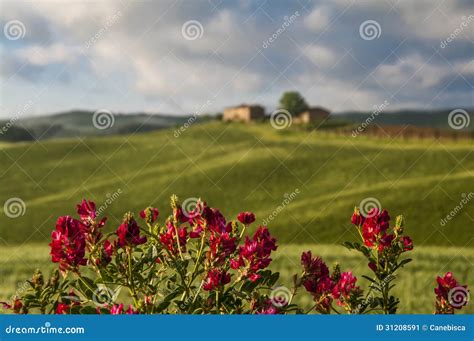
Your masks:
{"label": "hazy distant hills on both sides of the hilltop farmhouse", "polygon": [[[338,129],[360,124],[373,116],[371,127],[375,126],[405,126],[430,127],[458,132],[450,128],[448,115],[453,109],[436,111],[428,110],[400,110],[382,112],[373,115],[372,112],[346,111],[334,113],[320,129]],[[467,109],[471,123],[463,131],[474,131],[474,109]],[[212,116],[200,116],[198,121],[203,122],[216,119]],[[28,117],[15,121],[13,125],[7,120],[0,121],[0,141],[31,141],[64,137],[87,137],[131,134],[147,132],[171,127],[180,127],[187,122],[196,121],[192,116],[173,116],[164,114],[123,113],[113,115],[113,124],[107,113],[102,117],[95,117],[94,112],[74,110],[64,113]],[[106,127],[105,129],[97,128]],[[2,130],[2,127],[8,129]]]}

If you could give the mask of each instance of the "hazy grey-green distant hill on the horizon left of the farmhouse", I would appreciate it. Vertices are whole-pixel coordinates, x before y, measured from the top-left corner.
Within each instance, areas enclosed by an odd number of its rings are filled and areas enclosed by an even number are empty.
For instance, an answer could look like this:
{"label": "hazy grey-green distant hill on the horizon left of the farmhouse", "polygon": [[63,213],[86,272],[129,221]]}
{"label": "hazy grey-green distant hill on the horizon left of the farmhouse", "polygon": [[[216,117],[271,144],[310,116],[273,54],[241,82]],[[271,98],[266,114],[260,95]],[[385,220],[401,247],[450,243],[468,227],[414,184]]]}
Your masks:
{"label": "hazy grey-green distant hill on the horizon left of the farmhouse", "polygon": [[[191,116],[172,116],[163,114],[108,113],[96,115],[92,111],[69,111],[59,114],[28,117],[15,121],[0,121],[0,127],[8,127],[0,140],[31,141],[63,137],[105,136],[146,132],[163,128],[178,127],[194,119]],[[205,118],[199,118],[200,121]],[[94,125],[95,123],[95,125]],[[11,125],[11,126],[10,126]],[[104,129],[100,129],[104,128]]]}

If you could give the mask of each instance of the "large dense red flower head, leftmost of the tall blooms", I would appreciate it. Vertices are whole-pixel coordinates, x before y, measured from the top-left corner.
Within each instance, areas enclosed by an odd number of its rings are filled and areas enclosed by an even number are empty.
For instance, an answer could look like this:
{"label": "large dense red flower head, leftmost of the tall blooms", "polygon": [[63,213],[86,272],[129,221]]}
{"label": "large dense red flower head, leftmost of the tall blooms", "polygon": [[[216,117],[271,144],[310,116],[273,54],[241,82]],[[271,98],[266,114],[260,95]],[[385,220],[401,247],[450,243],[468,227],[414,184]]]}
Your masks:
{"label": "large dense red flower head, leftmost of the tall blooms", "polygon": [[54,263],[59,263],[61,271],[77,269],[79,265],[86,264],[86,243],[79,220],[70,216],[59,217],[51,237],[51,259]]}

